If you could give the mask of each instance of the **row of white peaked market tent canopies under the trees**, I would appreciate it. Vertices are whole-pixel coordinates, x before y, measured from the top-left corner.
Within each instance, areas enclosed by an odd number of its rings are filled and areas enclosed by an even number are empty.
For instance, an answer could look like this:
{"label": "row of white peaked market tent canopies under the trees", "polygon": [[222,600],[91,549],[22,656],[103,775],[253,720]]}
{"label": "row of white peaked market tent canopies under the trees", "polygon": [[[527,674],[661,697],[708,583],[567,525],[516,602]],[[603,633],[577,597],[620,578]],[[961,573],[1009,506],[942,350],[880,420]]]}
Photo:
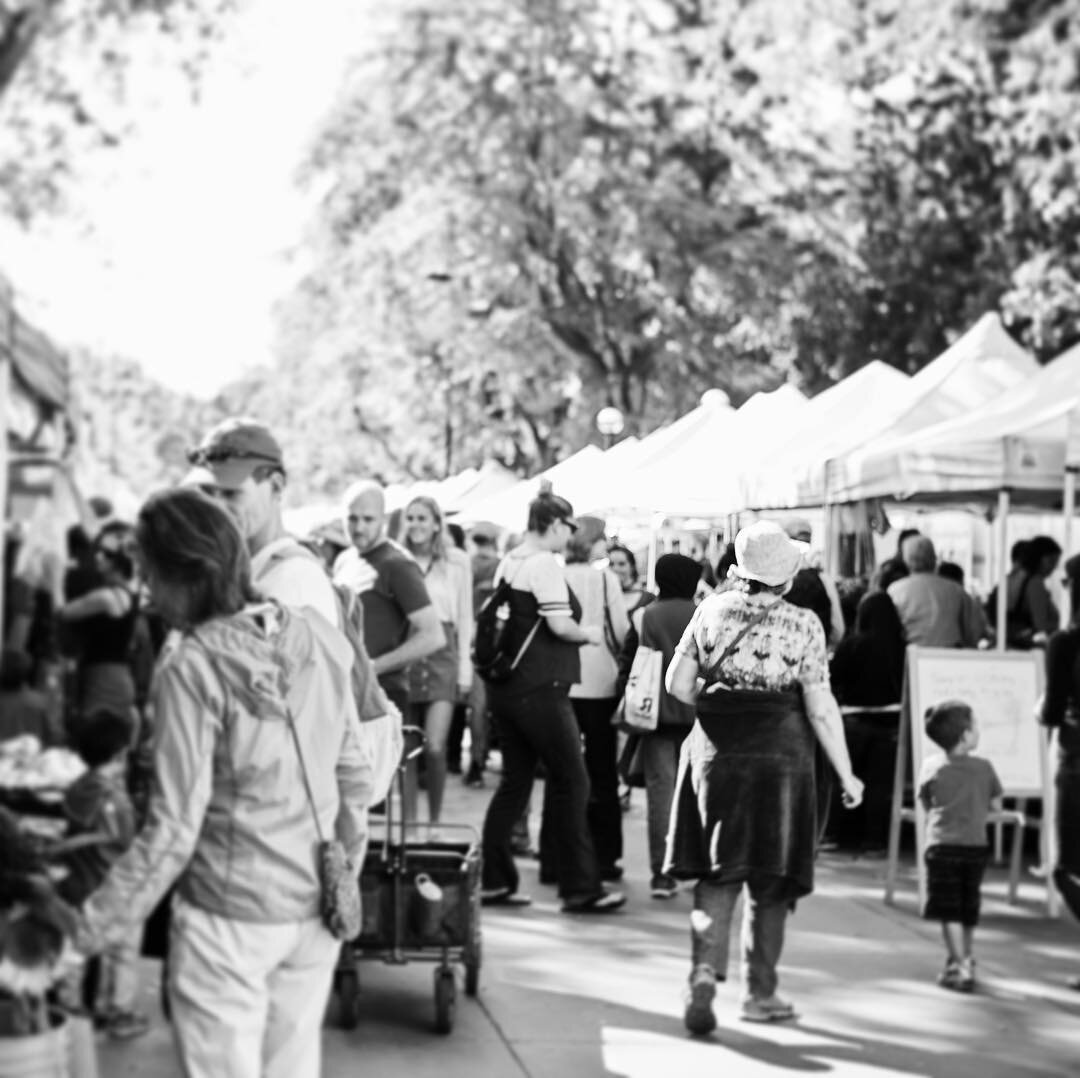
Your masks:
{"label": "row of white peaked market tent canopies under the trees", "polygon": [[1080,464],[1080,347],[1040,367],[988,313],[914,376],[872,362],[812,399],[782,386],[739,408],[710,391],[646,437],[496,489],[474,474],[444,500],[509,529],[541,481],[581,512],[683,520],[881,498],[996,504],[1001,491],[1053,507],[1067,464]]}

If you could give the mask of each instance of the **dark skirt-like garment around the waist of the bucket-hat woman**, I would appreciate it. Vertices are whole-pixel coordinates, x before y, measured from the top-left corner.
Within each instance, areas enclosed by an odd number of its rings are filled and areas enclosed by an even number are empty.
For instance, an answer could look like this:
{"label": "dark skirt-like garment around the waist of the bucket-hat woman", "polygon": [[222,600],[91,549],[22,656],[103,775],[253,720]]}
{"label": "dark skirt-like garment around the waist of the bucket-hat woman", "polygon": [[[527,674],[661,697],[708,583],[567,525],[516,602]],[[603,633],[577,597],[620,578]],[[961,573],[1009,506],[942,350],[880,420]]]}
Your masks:
{"label": "dark skirt-like garment around the waist of the bucket-hat woman", "polygon": [[678,879],[777,876],[813,890],[816,739],[798,692],[719,690],[698,701],[679,753],[664,872]]}

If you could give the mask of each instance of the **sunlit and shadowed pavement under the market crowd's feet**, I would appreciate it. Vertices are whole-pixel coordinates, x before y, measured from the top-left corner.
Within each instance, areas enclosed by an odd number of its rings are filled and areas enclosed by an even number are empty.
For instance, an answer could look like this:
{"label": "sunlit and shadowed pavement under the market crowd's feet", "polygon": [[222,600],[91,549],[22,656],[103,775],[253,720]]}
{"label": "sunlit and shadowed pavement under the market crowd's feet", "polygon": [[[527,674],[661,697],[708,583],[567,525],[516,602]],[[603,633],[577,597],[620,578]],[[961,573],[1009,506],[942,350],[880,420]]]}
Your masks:
{"label": "sunlit and shadowed pavement under the market crowd's feet", "polygon": [[[449,777],[446,819],[478,826],[497,781],[488,773],[487,789],[469,790]],[[535,796],[534,806],[540,803]],[[534,816],[534,835],[537,826]],[[935,984],[940,930],[917,917],[914,867],[907,865],[890,907],[881,899],[885,862],[823,854],[818,890],[791,918],[781,964],[781,992],[796,1003],[798,1020],[738,1021],[733,962],[717,992],[719,1027],[696,1039],[681,1021],[691,899],[649,897],[640,791],[624,833],[630,901],[619,914],[559,913],[554,889],[537,881],[536,862],[521,863],[534,905],[484,911],[480,995],[467,998],[459,975],[449,1036],[432,1032],[432,966],[363,965],[359,1027],[345,1033],[330,1024],[324,1032],[326,1078],[1080,1074],[1080,993],[1065,987],[1080,973],[1080,928],[1047,919],[1038,880],[1028,877],[1020,904],[1009,906],[1004,871],[991,870],[976,934],[978,988],[963,996]],[[102,1078],[179,1078],[156,1006],[157,964],[144,969],[154,1027],[127,1043],[99,1040]],[[330,1021],[333,1011],[332,1003]]]}

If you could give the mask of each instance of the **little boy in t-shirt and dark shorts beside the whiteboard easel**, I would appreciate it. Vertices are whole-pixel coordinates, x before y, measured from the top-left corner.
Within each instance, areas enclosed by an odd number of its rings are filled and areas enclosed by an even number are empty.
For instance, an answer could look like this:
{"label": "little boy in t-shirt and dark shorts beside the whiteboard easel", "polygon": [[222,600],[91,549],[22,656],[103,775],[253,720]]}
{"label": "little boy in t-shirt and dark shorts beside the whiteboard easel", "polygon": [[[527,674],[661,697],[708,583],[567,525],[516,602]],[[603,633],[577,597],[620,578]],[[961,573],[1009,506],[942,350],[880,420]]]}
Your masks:
{"label": "little boy in t-shirt and dark shorts beside the whiteboard easel", "polygon": [[945,755],[930,757],[919,776],[919,800],[928,812],[928,894],[922,916],[942,922],[947,958],[937,983],[973,992],[971,947],[989,855],[986,818],[1001,808],[1001,783],[989,760],[971,755],[978,744],[978,726],[962,700],[945,700],[928,709],[926,729]]}

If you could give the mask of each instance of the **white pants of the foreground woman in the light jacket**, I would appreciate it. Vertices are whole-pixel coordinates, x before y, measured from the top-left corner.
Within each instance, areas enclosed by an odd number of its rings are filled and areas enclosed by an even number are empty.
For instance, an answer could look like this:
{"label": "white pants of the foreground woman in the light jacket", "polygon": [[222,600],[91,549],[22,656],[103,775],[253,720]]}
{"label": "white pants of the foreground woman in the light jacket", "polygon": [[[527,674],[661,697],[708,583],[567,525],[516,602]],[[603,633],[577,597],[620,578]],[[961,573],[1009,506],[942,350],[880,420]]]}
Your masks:
{"label": "white pants of the foreground woman in the light jacket", "polygon": [[318,919],[231,920],[177,900],[168,993],[187,1078],[319,1078],[340,946]]}

